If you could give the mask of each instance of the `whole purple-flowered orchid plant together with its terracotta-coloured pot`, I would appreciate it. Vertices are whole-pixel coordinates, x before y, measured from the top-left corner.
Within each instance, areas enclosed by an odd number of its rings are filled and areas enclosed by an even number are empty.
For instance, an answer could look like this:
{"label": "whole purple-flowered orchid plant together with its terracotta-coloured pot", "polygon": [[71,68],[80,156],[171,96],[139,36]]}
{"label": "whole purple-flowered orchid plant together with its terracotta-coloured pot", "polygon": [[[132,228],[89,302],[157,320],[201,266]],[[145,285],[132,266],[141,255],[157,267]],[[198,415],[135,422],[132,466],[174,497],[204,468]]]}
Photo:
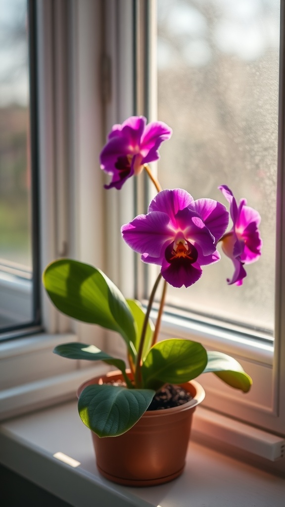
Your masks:
{"label": "whole purple-flowered orchid plant together with its terracotta-coloured pot", "polygon": [[[148,164],[159,158],[158,148],[170,136],[171,129],[162,122],[146,125],[144,117],[131,117],[113,127],[100,155],[101,169],[112,175],[106,189],[119,190],[127,178],[146,170],[157,190],[148,213],[121,229],[142,261],[161,266],[146,311],[138,301],[125,300],[114,283],[90,265],[59,259],[43,275],[46,291],[61,312],[116,331],[125,342],[128,366],[90,344],[66,343],[54,350],[63,357],[101,360],[117,369],[79,388],[78,409],[92,431],[99,471],[121,484],[159,484],[182,473],[192,414],[204,397],[194,380],[201,373],[213,372],[243,392],[252,384],[241,365],[226,354],[206,351],[187,339],[158,341],[168,283],[196,283],[202,266],[220,260],[221,243],[234,264],[227,282],[241,285],[244,265],[258,260],[262,246],[259,213],[245,199],[237,205],[226,185],[219,188],[230,213],[224,204],[195,201],[183,189],[161,189]],[[227,232],[229,214],[233,224]],[[150,312],[162,279],[154,325]]]}

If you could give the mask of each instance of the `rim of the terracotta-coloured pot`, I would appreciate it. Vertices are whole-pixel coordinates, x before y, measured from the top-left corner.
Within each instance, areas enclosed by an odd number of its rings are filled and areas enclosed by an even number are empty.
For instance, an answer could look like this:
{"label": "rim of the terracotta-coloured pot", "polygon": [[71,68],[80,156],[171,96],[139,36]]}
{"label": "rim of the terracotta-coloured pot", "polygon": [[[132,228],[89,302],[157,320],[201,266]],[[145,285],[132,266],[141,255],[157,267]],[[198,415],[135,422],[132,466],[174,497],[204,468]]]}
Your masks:
{"label": "rim of the terracotta-coloured pot", "polygon": [[[115,376],[122,376],[122,372],[120,370],[115,370],[115,371],[113,370],[113,371],[110,371],[104,375],[96,375],[95,377],[92,377],[91,379],[86,380],[85,382],[83,382],[79,386],[79,388],[77,390],[77,397],[79,398],[81,392],[83,391],[83,389],[85,387],[96,383],[96,382],[92,382],[93,380],[102,379],[104,377],[107,377],[107,378],[111,377],[112,378]],[[98,384],[103,384],[103,382],[102,381],[98,382]],[[187,384],[192,385],[196,391],[196,393],[194,395],[191,393],[191,395],[193,395],[192,400],[190,400],[187,403],[184,403],[183,405],[178,405],[177,407],[171,407],[171,408],[164,409],[164,410],[147,410],[144,413],[144,417],[154,417],[154,416],[161,417],[165,413],[183,412],[184,410],[188,410],[190,407],[194,408],[197,405],[199,405],[204,400],[204,397],[205,397],[204,388],[196,380],[189,380],[188,382],[182,382],[181,384],[177,384],[177,385],[181,385],[182,387],[185,387]]]}

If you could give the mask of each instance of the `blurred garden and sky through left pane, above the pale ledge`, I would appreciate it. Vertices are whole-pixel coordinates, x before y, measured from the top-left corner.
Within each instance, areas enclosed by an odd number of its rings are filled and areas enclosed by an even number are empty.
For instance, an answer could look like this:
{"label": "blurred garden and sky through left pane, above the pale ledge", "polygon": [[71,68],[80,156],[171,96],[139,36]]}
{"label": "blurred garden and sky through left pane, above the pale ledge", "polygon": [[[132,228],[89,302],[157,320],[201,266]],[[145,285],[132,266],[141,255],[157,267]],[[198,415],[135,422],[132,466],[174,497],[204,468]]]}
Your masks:
{"label": "blurred garden and sky through left pane, above the pale ledge", "polygon": [[27,3],[0,0],[0,259],[31,268]]}

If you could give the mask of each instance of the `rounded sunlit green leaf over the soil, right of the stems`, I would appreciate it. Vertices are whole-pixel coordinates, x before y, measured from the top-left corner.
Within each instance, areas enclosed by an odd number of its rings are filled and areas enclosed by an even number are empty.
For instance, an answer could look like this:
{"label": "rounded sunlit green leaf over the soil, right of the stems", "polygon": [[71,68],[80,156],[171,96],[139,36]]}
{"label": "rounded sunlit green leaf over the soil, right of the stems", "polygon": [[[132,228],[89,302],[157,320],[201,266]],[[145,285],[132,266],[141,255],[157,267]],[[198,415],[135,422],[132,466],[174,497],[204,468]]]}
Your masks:
{"label": "rounded sunlit green leaf over the soil, right of the stems", "polygon": [[158,389],[161,385],[182,384],[203,372],[207,353],[197,342],[170,338],[156,343],[141,367],[145,387]]}

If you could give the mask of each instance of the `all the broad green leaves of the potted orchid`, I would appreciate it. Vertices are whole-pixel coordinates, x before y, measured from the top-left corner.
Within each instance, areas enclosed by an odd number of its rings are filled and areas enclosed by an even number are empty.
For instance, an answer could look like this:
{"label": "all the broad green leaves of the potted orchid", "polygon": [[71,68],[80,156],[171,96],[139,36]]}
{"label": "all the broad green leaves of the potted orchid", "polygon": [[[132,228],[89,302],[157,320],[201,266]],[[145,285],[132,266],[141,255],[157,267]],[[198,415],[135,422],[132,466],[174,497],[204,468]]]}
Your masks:
{"label": "all the broad green leaves of the potted orchid", "polygon": [[[144,335],[145,312],[138,301],[125,300],[102,271],[70,259],[50,264],[43,276],[53,304],[63,313],[84,322],[117,331],[125,340],[134,380],[122,359],[94,345],[66,343],[54,352],[69,359],[102,360],[121,370],[127,387],[89,385],[78,403],[84,424],[99,437],[117,436],[130,429],[145,413],[155,391],[165,383],[182,384],[201,373],[212,372],[228,385],[247,392],[252,379],[232,357],[206,352],[200,343],[170,338],[152,344],[154,325],[149,319]],[[142,361],[138,360],[143,339]],[[141,388],[142,387],[142,388]]]}

